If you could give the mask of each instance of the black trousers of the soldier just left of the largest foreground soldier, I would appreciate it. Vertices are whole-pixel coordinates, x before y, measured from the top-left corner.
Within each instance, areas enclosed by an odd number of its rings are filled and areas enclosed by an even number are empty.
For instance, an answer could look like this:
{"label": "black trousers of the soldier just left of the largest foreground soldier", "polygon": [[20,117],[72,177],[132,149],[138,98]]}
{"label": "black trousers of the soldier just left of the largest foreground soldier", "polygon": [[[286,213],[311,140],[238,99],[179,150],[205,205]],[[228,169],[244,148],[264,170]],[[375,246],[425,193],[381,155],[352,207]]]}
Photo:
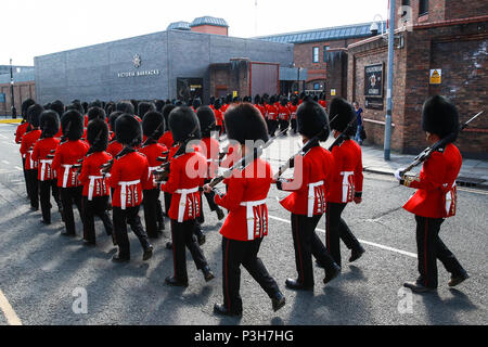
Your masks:
{"label": "black trousers of the soldier just left of the largest foreground soldier", "polygon": [[189,219],[181,223],[171,219],[172,265],[175,278],[181,282],[188,282],[185,247],[190,250],[196,269],[201,270],[208,265],[202,248],[200,248],[194,237],[194,219]]}

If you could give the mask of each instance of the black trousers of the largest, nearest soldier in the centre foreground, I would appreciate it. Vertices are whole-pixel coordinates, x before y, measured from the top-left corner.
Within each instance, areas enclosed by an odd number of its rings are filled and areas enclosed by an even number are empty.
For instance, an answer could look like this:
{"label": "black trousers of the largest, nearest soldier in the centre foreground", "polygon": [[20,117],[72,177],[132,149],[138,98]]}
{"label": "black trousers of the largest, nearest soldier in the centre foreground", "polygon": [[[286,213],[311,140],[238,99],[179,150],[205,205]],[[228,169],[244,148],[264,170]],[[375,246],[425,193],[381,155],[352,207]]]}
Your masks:
{"label": "black trousers of the largest, nearest soldier in the centre foreground", "polygon": [[268,273],[262,260],[258,258],[262,239],[236,241],[222,237],[222,291],[223,305],[231,312],[242,312],[241,265],[270,298],[280,292],[277,281]]}

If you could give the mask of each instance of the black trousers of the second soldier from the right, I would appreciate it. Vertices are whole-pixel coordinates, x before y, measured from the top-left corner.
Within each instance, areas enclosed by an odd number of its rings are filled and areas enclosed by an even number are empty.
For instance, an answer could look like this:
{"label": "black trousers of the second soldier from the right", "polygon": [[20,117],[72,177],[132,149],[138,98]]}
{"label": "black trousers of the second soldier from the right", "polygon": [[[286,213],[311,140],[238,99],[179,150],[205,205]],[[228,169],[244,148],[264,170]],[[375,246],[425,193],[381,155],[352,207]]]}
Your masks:
{"label": "black trousers of the second soldier from the right", "polygon": [[360,247],[358,239],[352,234],[341,215],[347,204],[328,203],[325,211],[325,245],[334,261],[341,266],[341,244],[339,240],[349,249]]}

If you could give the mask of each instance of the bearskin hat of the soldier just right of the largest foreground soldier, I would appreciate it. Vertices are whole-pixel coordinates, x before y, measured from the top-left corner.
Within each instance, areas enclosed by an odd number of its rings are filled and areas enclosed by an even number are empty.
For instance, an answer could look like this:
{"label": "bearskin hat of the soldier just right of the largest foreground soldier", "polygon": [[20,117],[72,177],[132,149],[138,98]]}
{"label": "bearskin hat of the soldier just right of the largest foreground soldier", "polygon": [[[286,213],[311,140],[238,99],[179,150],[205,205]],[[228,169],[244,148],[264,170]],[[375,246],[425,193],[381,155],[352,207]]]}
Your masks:
{"label": "bearskin hat of the soldier just right of the largest foreground soldier", "polygon": [[329,119],[323,107],[314,101],[306,101],[296,111],[296,125],[298,133],[311,139],[322,129],[326,128],[319,139],[325,141],[329,138]]}

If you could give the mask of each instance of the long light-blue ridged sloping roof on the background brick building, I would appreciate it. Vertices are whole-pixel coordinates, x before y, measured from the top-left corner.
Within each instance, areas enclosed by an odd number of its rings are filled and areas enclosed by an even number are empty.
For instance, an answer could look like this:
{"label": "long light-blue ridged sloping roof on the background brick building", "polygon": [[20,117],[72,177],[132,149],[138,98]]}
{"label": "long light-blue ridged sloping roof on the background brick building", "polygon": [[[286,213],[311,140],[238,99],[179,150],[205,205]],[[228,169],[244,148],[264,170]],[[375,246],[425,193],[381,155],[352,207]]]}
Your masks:
{"label": "long light-blue ridged sloping roof on the background brick building", "polygon": [[[371,36],[370,27],[372,22],[335,26],[314,30],[285,33],[278,35],[268,35],[255,37],[259,40],[273,41],[279,43],[306,43],[306,42],[320,42],[320,41],[332,41],[357,37],[369,37]],[[377,22],[378,27],[382,27],[382,23]],[[383,22],[383,27],[386,29],[386,24]]]}

